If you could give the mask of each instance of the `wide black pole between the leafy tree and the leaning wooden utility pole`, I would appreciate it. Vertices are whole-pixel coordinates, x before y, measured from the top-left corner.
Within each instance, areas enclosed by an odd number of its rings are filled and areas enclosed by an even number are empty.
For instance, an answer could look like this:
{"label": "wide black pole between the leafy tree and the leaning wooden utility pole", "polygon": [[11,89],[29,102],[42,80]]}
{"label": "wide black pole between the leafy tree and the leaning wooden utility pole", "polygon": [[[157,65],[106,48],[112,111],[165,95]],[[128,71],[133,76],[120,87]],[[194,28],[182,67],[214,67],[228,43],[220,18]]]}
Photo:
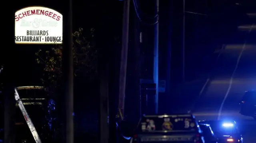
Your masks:
{"label": "wide black pole between the leafy tree and the leaning wooden utility pole", "polygon": [[[106,4],[107,2],[102,3],[103,6]],[[112,13],[107,12],[106,14],[98,16],[99,20],[109,20],[109,17],[106,15],[111,16]],[[112,57],[114,57],[113,53],[115,52],[114,46],[110,44],[112,36],[108,35],[111,32],[109,26],[109,22],[100,25],[100,27],[98,27],[98,35],[100,37],[96,39],[98,40],[96,43],[98,43],[97,45],[100,48],[98,52],[98,71],[100,77],[100,98],[98,102],[98,106],[100,107],[98,110],[98,136],[100,143],[116,142],[116,93],[113,93],[113,88],[111,88],[111,82],[114,80],[114,77],[112,76],[114,68],[111,66],[114,63]],[[114,89],[116,89],[116,87]],[[108,95],[111,95],[110,98]]]}

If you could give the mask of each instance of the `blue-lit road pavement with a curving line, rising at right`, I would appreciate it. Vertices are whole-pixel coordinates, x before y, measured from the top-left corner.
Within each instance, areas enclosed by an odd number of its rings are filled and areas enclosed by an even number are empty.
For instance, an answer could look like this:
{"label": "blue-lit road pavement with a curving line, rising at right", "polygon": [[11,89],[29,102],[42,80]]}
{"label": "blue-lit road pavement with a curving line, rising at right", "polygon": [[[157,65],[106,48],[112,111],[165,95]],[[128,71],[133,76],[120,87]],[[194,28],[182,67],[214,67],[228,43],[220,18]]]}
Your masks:
{"label": "blue-lit road pavement with a curving line, rising at right", "polygon": [[256,28],[238,27],[223,50],[212,78],[193,107],[196,119],[235,119],[244,131],[245,143],[256,143],[256,120],[239,114],[246,90],[256,89]]}

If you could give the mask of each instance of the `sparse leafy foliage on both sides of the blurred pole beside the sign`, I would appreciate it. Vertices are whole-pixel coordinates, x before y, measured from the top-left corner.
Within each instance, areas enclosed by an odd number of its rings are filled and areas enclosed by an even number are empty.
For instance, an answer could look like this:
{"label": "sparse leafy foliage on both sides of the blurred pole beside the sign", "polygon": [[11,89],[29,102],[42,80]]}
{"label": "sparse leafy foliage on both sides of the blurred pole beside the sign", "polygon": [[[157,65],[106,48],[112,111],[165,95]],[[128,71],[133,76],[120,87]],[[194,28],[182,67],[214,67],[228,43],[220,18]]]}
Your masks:
{"label": "sparse leafy foliage on both sides of the blurred pole beside the sign", "polygon": [[[93,44],[94,29],[90,29],[89,34],[83,35],[83,29],[73,33],[73,52],[74,52],[74,76],[96,78],[97,77],[97,50]],[[54,94],[60,85],[62,77],[62,45],[55,45],[50,50],[39,50],[35,53],[36,62],[44,68],[41,78],[44,86],[49,88],[49,92]]]}

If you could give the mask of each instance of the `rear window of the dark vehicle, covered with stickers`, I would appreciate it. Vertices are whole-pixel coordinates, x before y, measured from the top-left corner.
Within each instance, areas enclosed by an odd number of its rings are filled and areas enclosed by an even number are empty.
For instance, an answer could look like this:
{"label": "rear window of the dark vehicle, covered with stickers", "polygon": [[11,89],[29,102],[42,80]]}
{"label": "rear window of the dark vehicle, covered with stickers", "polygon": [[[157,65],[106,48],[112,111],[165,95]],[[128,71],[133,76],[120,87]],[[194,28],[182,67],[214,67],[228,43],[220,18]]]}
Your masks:
{"label": "rear window of the dark vehicle, covered with stickers", "polygon": [[197,123],[192,116],[179,117],[159,116],[143,117],[138,125],[138,132],[159,132],[159,131],[196,131]]}

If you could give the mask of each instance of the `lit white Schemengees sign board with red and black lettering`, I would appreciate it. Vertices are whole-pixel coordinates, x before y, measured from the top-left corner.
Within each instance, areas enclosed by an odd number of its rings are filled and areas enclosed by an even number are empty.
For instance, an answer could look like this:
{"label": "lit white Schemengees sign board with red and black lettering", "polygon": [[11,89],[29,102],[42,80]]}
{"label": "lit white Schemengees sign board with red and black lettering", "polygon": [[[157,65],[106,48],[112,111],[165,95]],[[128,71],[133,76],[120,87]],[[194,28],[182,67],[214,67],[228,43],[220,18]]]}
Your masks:
{"label": "lit white Schemengees sign board with red and black lettering", "polygon": [[15,13],[15,43],[61,44],[62,20],[62,14],[50,8],[22,8]]}

